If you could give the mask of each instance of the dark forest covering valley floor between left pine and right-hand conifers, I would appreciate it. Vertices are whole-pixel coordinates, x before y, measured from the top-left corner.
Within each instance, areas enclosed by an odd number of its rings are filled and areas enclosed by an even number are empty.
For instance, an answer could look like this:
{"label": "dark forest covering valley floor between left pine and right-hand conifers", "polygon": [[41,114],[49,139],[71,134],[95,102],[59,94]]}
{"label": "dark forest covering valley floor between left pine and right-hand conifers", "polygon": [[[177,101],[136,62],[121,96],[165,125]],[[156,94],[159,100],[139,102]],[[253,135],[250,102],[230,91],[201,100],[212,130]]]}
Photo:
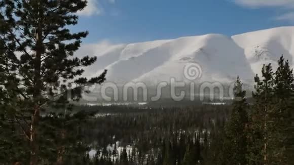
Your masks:
{"label": "dark forest covering valley floor between left pine and right-hand conifers", "polygon": [[[191,162],[209,164],[209,156],[205,157],[205,153],[212,149],[208,145],[212,137],[208,132],[214,134],[213,138],[216,139],[219,132],[214,133],[214,128],[223,127],[218,125],[223,124],[222,118],[228,115],[229,106],[181,109],[119,106],[91,108],[108,109],[102,110],[108,116],[100,113],[101,117],[93,118],[84,128],[86,142],[99,153],[97,157],[94,155],[90,158],[91,162],[101,165],[176,165]],[[203,143],[205,136],[207,146]],[[107,150],[107,146],[116,146],[118,152]]]}

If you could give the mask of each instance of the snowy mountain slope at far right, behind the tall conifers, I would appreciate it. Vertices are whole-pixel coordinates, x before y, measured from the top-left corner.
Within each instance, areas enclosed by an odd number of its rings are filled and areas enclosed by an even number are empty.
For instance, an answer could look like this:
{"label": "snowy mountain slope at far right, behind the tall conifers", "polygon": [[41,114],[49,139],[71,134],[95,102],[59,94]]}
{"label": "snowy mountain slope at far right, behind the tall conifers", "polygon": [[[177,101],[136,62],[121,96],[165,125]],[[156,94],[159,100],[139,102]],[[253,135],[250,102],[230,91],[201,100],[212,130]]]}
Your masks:
{"label": "snowy mountain slope at far right, behind the tall conifers", "polygon": [[294,27],[279,27],[235,35],[235,42],[244,49],[244,54],[254,73],[261,74],[263,64],[272,63],[283,54],[290,64],[294,57]]}

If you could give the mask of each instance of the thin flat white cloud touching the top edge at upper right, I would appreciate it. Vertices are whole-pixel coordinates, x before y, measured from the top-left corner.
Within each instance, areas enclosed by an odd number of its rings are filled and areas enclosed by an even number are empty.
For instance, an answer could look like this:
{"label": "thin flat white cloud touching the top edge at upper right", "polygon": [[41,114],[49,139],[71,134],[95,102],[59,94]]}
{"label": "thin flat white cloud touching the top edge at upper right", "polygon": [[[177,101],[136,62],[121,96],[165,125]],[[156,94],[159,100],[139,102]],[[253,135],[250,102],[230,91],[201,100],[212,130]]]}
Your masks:
{"label": "thin flat white cloud touching the top edge at upper right", "polygon": [[235,3],[253,8],[285,7],[294,8],[294,0],[234,0]]}

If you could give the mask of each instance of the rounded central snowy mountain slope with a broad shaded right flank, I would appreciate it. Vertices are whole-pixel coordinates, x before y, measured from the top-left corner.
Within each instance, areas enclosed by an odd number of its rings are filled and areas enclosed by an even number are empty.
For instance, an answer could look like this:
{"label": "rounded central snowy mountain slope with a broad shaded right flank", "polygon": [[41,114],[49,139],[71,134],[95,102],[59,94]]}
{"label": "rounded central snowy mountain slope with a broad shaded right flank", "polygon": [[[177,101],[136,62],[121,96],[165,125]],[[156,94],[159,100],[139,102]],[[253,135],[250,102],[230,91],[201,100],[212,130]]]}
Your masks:
{"label": "rounded central snowy mountain slope with a broad shaded right flank", "polygon": [[249,79],[254,75],[243,50],[227,36],[207,34],[181,38],[178,42],[182,42],[182,40],[189,40],[187,42],[189,44],[186,44],[183,48],[177,48],[178,53],[174,54],[169,61],[135,81],[148,82],[148,80],[153,79],[169,81],[169,77],[175,77],[178,81],[185,81],[187,79],[183,76],[185,71],[183,68],[187,63],[193,62],[198,63],[202,69],[202,77],[196,79],[197,82],[228,82],[235,79],[237,75],[244,79]]}

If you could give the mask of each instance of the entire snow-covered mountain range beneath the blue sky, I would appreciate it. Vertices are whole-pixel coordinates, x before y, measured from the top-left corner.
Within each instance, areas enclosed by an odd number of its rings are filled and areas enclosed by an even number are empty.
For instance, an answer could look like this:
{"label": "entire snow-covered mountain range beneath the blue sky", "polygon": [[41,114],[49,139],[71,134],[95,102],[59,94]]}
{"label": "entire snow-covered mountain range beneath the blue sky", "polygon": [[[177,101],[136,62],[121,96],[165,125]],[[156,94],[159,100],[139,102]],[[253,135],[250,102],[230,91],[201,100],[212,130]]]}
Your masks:
{"label": "entire snow-covered mountain range beneath the blue sky", "polygon": [[[187,81],[185,66],[198,64],[201,78],[195,81],[232,82],[239,75],[250,82],[263,64],[284,55],[292,65],[294,27],[254,31],[232,37],[222,34],[180,37],[152,42],[84,46],[78,54],[94,54],[97,62],[86,68],[88,76],[108,69],[107,80],[116,83],[142,81],[156,85],[174,77]],[[199,71],[199,70],[198,70]],[[189,80],[189,79],[188,79]]]}

